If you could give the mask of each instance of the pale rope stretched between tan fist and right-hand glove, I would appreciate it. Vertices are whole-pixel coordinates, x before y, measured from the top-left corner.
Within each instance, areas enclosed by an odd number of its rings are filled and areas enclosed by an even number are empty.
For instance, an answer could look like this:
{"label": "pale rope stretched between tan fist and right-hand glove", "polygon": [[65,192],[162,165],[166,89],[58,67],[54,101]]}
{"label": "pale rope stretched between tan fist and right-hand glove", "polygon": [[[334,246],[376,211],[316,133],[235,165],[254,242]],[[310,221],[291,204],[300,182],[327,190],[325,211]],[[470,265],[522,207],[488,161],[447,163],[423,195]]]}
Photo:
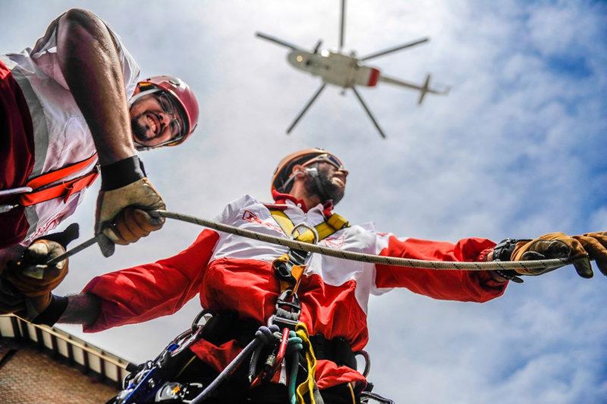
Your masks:
{"label": "pale rope stretched between tan fist and right-hand glove", "polygon": [[323,254],[325,256],[336,257],[351,261],[360,261],[368,263],[380,263],[384,265],[395,265],[397,267],[423,268],[428,270],[459,270],[459,271],[491,271],[491,270],[534,270],[538,268],[560,268],[571,263],[567,259],[543,259],[533,261],[491,261],[491,262],[453,262],[453,261],[427,261],[421,259],[409,259],[401,257],[385,257],[373,254],[355,253],[353,251],[335,250],[333,248],[322,247],[317,244],[304,243],[284,237],[270,236],[270,234],[257,233],[256,231],[245,230],[242,228],[213,222],[211,220],[200,219],[199,217],[189,216],[187,214],[175,213],[166,210],[153,210],[148,213],[152,216],[166,217],[168,219],[180,220],[224,233],[236,234],[266,243],[278,244],[295,250],[309,251],[310,253]]}

